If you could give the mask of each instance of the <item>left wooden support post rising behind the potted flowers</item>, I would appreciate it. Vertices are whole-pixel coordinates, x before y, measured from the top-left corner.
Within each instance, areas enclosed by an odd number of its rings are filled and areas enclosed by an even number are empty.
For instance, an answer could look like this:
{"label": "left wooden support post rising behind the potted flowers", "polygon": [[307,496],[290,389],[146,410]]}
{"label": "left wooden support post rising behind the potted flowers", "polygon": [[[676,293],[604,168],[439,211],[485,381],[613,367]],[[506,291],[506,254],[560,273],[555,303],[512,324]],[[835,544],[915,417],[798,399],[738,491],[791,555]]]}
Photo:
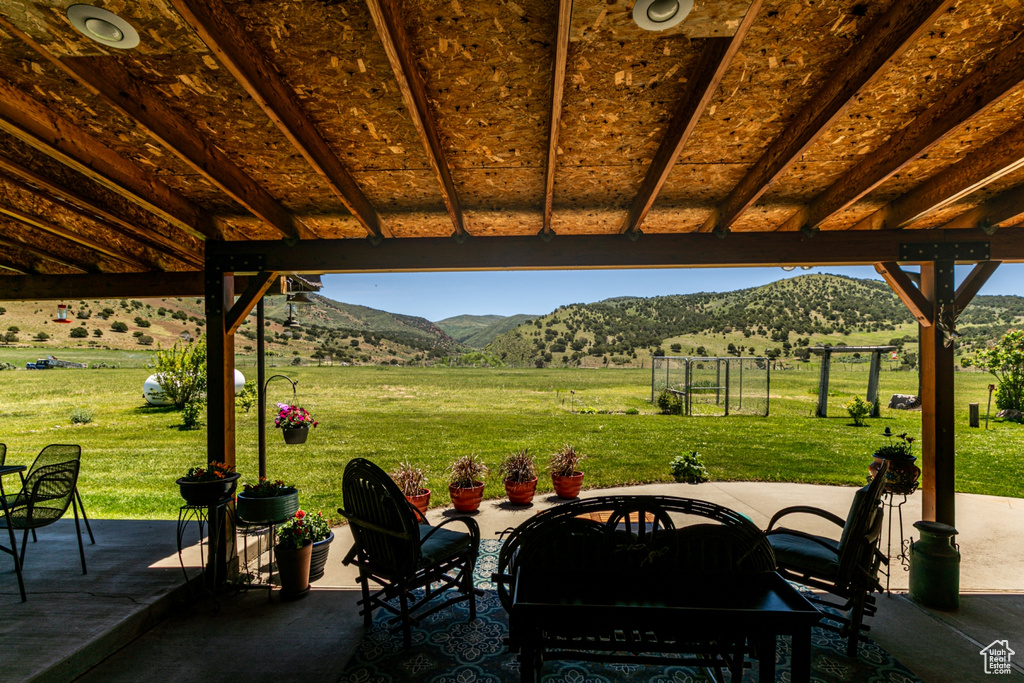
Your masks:
{"label": "left wooden support post rising behind the potted flowers", "polygon": [[[234,303],[234,278],[216,268],[206,270],[206,445],[207,460],[234,465],[234,335],[227,327]],[[217,508],[223,515],[219,531],[210,537],[207,577],[223,581],[238,574],[233,504]]]}

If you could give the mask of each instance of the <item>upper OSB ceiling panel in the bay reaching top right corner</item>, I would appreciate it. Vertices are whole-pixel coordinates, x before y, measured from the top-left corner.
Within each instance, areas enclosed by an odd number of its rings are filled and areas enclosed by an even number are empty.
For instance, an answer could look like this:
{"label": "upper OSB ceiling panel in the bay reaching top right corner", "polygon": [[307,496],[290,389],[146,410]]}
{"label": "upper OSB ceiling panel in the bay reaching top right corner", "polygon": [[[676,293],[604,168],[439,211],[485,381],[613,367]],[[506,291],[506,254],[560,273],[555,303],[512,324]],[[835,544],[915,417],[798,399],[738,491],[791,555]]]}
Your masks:
{"label": "upper OSB ceiling panel in the bay reaching top right corner", "polygon": [[946,11],[804,159],[856,163],[859,155],[881,147],[1016,37],[1024,23],[1024,5],[997,13],[993,9],[962,2]]}

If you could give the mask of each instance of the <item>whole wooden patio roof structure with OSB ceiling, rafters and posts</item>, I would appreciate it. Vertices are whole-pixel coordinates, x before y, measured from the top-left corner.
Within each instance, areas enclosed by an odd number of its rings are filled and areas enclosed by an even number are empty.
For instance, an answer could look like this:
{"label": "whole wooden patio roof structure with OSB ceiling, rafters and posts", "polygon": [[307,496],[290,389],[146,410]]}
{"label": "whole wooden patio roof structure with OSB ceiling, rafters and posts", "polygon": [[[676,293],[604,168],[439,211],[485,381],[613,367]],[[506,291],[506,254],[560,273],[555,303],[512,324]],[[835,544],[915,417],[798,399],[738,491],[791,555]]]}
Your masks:
{"label": "whole wooden patio roof structure with OSB ceiling, rafters and posts", "polygon": [[282,274],[874,264],[953,523],[944,342],[1024,260],[1024,4],[94,0],[126,49],[71,4],[0,9],[0,299],[205,296],[211,459]]}

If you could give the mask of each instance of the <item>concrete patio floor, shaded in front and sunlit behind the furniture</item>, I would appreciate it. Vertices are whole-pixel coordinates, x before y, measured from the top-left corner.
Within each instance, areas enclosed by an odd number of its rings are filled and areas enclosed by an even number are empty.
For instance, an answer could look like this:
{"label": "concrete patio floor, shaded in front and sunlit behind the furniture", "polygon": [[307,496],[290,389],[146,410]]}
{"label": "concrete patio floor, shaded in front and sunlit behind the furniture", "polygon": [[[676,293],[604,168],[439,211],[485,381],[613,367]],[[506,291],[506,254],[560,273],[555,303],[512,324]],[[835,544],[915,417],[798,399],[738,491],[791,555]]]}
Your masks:
{"label": "concrete patio floor, shaded in front and sunlit behind the furniture", "polygon": [[[660,494],[726,505],[764,527],[790,505],[846,516],[853,488],[792,483],[653,484],[584,492]],[[528,508],[484,501],[482,537],[496,538],[537,510],[557,504],[541,496]],[[86,498],[88,503],[88,498]],[[893,571],[892,596],[879,596],[871,637],[926,681],[986,680],[979,651],[1008,639],[1024,661],[1024,500],[957,495],[963,553],[961,609],[924,608],[905,596],[907,574]],[[453,514],[431,510],[432,519]],[[921,495],[903,507],[906,538],[916,538]],[[808,521],[811,521],[810,519]],[[29,601],[22,603],[10,558],[0,555],[2,681],[335,681],[361,636],[355,573],[341,560],[351,543],[336,529],[327,572],[301,600],[253,590],[217,599],[184,585],[173,521],[94,520],[82,575],[74,521],[41,529],[26,558]],[[822,527],[822,530],[825,530]],[[830,531],[830,530],[829,530]],[[898,529],[893,529],[897,552]],[[189,528],[195,535],[195,526]],[[20,539],[18,539],[20,541]],[[883,536],[883,545],[886,538]],[[6,545],[6,536],[0,541]],[[86,538],[86,543],[88,539]],[[193,575],[197,548],[185,554]],[[1014,665],[1011,679],[1024,677]]]}

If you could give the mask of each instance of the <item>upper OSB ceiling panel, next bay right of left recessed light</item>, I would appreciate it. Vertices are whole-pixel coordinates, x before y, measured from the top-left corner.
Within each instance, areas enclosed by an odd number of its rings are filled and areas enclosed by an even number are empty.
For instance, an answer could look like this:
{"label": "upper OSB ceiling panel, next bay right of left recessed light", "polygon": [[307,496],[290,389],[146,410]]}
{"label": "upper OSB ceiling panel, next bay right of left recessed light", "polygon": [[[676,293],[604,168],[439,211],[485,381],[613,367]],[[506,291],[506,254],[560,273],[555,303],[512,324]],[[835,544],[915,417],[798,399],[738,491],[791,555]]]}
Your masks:
{"label": "upper OSB ceiling panel, next bay right of left recessed light", "polygon": [[349,171],[429,168],[365,2],[231,8]]}

